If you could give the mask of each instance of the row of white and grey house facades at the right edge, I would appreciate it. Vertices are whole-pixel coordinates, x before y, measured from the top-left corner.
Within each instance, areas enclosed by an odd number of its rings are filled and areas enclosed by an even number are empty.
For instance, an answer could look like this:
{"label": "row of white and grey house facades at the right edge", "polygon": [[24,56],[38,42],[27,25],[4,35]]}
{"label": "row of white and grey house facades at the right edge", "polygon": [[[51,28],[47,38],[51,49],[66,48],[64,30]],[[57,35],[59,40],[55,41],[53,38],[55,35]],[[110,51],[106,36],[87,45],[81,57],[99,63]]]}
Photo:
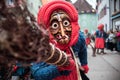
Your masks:
{"label": "row of white and grey house facades at the right edge", "polygon": [[105,31],[120,29],[120,0],[97,0],[97,14]]}

